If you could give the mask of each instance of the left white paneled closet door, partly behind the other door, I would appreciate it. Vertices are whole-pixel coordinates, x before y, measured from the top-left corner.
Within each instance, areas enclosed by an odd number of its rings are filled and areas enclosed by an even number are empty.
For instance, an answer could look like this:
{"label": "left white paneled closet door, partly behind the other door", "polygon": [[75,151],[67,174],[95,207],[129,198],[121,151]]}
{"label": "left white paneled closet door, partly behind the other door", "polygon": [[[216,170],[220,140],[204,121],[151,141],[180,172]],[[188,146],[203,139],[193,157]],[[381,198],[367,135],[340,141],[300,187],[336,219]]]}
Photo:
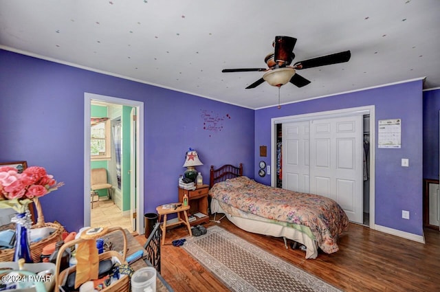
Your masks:
{"label": "left white paneled closet door, partly behind the other door", "polygon": [[309,192],[309,121],[283,124],[283,188]]}

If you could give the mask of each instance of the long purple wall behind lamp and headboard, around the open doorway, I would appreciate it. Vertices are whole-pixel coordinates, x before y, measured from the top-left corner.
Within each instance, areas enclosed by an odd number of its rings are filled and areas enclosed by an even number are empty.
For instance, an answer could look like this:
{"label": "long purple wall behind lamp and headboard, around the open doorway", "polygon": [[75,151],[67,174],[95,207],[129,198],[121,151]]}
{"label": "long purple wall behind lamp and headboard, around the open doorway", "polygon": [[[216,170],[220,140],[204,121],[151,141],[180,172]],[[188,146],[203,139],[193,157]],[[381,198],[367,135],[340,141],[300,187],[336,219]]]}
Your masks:
{"label": "long purple wall behind lamp and headboard, around the open doorway", "polygon": [[205,183],[211,164],[242,162],[253,177],[254,111],[0,49],[0,161],[25,160],[65,182],[41,199],[46,221],[83,226],[85,92],[144,102],[144,212],[177,201],[188,147]]}

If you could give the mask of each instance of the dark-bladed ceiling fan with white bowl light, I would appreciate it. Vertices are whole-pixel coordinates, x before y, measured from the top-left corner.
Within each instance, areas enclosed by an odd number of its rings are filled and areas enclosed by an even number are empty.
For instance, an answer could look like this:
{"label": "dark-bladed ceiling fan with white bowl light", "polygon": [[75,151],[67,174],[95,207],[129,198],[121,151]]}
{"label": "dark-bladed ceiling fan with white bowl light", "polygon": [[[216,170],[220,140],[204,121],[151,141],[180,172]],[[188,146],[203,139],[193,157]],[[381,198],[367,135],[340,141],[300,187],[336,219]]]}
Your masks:
{"label": "dark-bladed ceiling fan with white bowl light", "polygon": [[326,56],[320,56],[317,58],[311,58],[308,60],[302,60],[294,63],[290,66],[292,60],[295,58],[294,47],[296,38],[291,36],[276,36],[275,41],[272,43],[274,46],[274,54],[268,54],[264,61],[267,64],[267,68],[241,68],[241,69],[223,69],[222,72],[246,72],[246,71],[265,71],[266,73],[262,78],[256,80],[252,85],[246,87],[246,89],[255,88],[263,82],[267,82],[272,86],[281,87],[287,82],[291,82],[297,87],[303,87],[310,83],[309,80],[296,74],[296,70],[308,69],[312,67],[319,67],[325,65],[332,65],[337,63],[348,62],[351,57],[350,51],[339,52],[336,54],[330,54]]}

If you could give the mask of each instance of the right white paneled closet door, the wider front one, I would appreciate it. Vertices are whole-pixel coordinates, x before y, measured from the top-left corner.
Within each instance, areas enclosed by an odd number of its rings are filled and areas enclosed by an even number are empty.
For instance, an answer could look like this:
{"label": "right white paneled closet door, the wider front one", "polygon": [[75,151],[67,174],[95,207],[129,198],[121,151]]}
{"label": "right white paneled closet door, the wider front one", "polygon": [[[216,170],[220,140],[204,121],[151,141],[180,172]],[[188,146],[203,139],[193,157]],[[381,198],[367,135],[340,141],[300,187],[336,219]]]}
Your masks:
{"label": "right white paneled closet door, the wider front one", "polygon": [[361,223],[362,115],[310,122],[310,192],[327,196]]}

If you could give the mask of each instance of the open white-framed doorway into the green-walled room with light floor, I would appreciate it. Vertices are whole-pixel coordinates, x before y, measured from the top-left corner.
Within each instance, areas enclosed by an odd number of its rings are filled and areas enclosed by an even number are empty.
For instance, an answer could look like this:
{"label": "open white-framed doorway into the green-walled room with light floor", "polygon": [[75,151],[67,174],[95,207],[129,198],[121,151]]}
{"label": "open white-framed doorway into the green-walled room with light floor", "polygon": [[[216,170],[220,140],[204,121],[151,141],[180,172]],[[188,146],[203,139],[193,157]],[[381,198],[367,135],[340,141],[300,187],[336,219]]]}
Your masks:
{"label": "open white-framed doorway into the green-walled room with light floor", "polygon": [[[94,157],[96,150],[91,145],[91,118],[96,114],[98,108],[104,113],[108,120],[109,135],[111,136],[111,147],[108,147],[107,157]],[[135,112],[135,121],[132,122]],[[99,112],[99,111],[98,111]],[[92,113],[94,115],[92,115]],[[100,96],[93,93],[85,93],[85,204],[84,223],[85,226],[120,226],[130,232],[144,233],[144,222],[142,214],[144,209],[143,194],[143,102],[124,100],[109,96]],[[96,118],[96,117],[95,117]],[[125,122],[124,122],[125,121]],[[135,125],[135,131],[131,131]],[[131,135],[135,135],[132,139]],[[126,137],[118,137],[126,135]],[[116,139],[113,139],[117,137]],[[135,141],[133,147],[131,141]],[[119,145],[118,145],[119,142]],[[131,151],[133,149],[133,151]],[[94,152],[95,151],[95,152]],[[93,153],[94,152],[94,153]],[[118,154],[120,158],[117,159]],[[92,157],[94,157],[92,159]],[[95,199],[94,207],[91,208],[90,172],[92,168],[106,168],[109,183],[113,186],[111,192],[104,192]],[[133,179],[132,179],[133,178]],[[134,202],[132,202],[134,201]]]}

